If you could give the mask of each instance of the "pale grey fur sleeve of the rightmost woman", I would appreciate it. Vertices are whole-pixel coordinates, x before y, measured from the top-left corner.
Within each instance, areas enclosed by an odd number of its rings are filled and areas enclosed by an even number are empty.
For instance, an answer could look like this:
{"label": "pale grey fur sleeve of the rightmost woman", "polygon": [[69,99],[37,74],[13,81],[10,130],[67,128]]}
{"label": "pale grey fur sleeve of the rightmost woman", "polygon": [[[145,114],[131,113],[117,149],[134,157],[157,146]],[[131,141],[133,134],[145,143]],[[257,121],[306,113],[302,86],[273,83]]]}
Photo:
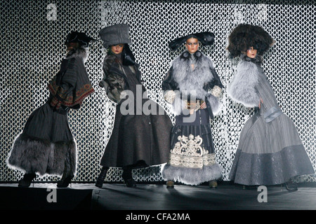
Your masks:
{"label": "pale grey fur sleeve of the rightmost woman", "polygon": [[260,102],[260,97],[256,90],[258,76],[258,65],[242,59],[237,66],[237,72],[228,84],[228,96],[233,101],[244,104],[244,106],[258,106]]}

